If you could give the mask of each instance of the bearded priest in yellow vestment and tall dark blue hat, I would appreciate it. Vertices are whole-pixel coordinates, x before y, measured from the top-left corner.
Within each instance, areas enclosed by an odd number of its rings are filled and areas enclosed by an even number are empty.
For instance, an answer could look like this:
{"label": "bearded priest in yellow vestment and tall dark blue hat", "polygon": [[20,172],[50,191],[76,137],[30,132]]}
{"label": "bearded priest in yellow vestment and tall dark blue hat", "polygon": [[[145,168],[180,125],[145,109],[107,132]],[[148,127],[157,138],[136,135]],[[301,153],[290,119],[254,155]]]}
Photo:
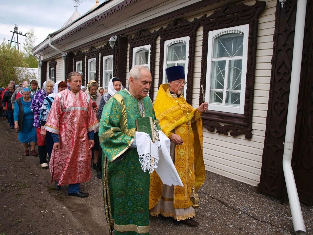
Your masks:
{"label": "bearded priest in yellow vestment and tall dark blue hat", "polygon": [[171,158],[184,186],[163,185],[154,171],[150,179],[149,209],[152,216],[161,214],[196,227],[199,223],[192,219],[196,213],[190,195],[205,179],[201,115],[208,110],[208,103],[193,108],[186,102],[183,66],[167,68],[166,75],[169,83],[160,86],[154,110],[162,131],[171,139]]}

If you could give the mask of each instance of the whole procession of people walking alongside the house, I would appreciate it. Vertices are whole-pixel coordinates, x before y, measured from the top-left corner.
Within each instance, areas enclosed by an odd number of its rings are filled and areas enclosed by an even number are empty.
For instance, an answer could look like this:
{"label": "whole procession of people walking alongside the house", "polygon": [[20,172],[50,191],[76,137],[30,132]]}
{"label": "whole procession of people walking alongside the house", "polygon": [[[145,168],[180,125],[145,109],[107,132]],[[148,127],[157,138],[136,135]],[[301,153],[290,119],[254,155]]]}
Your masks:
{"label": "whole procession of people walking alongside the house", "polygon": [[[167,68],[166,74],[168,84],[160,86],[154,105],[148,96],[151,73],[145,66],[131,68],[126,88],[116,77],[107,90],[95,80],[85,87],[78,72],[69,73],[67,82],[47,80],[41,89],[35,80],[18,88],[11,81],[0,89],[1,118],[18,131],[24,155],[36,156],[38,145],[40,165],[49,166],[56,190],[69,185],[68,196],[87,197],[80,184],[96,170],[103,178],[105,215],[115,234],[149,234],[149,214],[195,227],[197,201],[192,198],[205,179],[201,115],[208,103],[193,108],[186,102],[183,66]],[[158,144],[149,145],[139,135],[137,121],[146,117]],[[180,184],[163,183],[158,173],[166,170],[153,170],[155,147],[159,153],[168,148]],[[149,154],[140,154],[142,149]]]}

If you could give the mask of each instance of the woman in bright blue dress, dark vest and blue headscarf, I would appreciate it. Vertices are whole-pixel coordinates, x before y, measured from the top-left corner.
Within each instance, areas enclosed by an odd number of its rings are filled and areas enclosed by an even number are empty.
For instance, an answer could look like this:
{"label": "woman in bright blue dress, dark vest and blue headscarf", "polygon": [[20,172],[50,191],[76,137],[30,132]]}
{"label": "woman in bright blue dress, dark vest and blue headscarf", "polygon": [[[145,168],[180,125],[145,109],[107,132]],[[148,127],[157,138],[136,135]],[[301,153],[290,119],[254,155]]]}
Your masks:
{"label": "woman in bright blue dress, dark vest and blue headscarf", "polygon": [[14,105],[14,128],[18,130],[18,140],[24,146],[23,155],[29,155],[28,142],[30,142],[30,154],[37,156],[35,151],[37,134],[36,128],[33,126],[34,113],[30,110],[30,105],[32,103],[30,89],[28,87],[23,87],[21,92],[22,97],[18,98]]}

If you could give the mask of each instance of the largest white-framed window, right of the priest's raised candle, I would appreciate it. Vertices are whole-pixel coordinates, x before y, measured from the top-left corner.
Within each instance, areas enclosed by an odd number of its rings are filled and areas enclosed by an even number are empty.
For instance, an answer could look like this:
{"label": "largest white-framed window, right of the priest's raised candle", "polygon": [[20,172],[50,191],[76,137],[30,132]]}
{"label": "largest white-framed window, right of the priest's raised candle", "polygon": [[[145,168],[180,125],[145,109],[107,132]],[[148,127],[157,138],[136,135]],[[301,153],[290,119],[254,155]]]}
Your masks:
{"label": "largest white-framed window, right of the priest's raised candle", "polygon": [[206,102],[209,110],[244,113],[249,24],[210,31]]}

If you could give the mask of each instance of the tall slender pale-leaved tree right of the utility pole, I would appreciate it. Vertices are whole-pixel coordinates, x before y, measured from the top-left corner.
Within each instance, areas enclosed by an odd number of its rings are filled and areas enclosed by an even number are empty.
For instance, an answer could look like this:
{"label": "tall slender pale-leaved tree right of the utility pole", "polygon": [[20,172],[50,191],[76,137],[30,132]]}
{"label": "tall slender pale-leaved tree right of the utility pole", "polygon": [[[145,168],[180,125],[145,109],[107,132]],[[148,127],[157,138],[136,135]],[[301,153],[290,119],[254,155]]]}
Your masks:
{"label": "tall slender pale-leaved tree right of the utility pole", "polygon": [[34,29],[29,29],[26,32],[27,38],[24,41],[24,54],[25,54],[25,62],[27,63],[27,67],[29,68],[37,68],[38,60],[33,57],[33,48],[35,47],[35,41],[37,37],[34,34]]}

